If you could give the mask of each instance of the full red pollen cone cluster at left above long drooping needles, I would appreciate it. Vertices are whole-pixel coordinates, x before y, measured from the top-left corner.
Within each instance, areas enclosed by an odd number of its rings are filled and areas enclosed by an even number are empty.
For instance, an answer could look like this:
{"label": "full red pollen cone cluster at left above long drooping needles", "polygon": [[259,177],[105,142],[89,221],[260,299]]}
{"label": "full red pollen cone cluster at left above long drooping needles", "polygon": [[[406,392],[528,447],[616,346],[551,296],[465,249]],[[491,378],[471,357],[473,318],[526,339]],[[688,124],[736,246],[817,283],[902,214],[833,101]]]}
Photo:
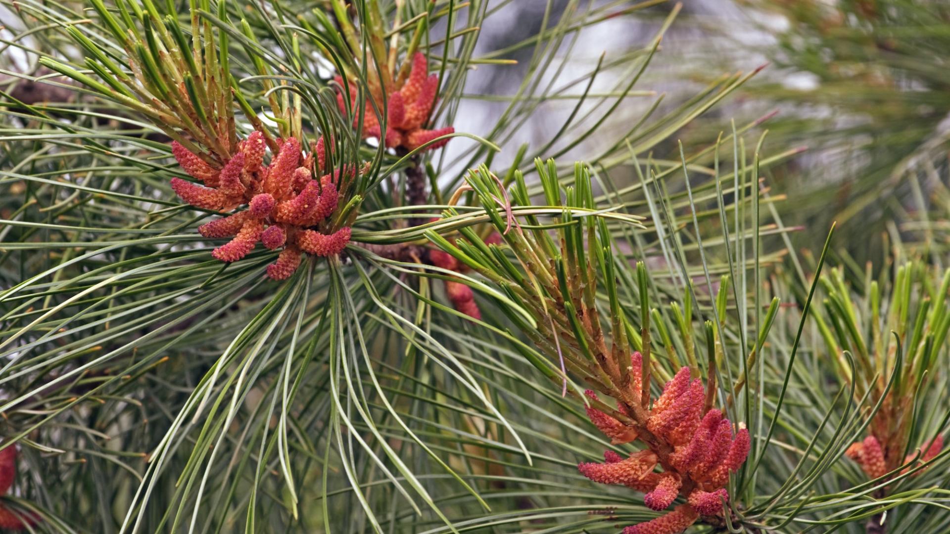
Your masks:
{"label": "full red pollen cone cluster at left above long drooping needles", "polygon": [[218,169],[181,144],[172,143],[172,153],[181,168],[204,185],[180,178],[171,182],[181,200],[195,207],[230,212],[245,206],[201,225],[198,231],[205,238],[231,238],[212,252],[221,261],[247,256],[258,241],[271,250],[282,248],[276,261],[267,267],[267,275],[276,280],[294,274],[302,253],[333,256],[350,241],[349,227],[331,234],[314,229],[333,214],[339,200],[338,170],[314,178],[326,166],[323,138],[306,158],[301,157],[300,142],[295,138],[283,140],[279,146],[270,164],[265,165],[266,144],[263,135],[255,131]]}

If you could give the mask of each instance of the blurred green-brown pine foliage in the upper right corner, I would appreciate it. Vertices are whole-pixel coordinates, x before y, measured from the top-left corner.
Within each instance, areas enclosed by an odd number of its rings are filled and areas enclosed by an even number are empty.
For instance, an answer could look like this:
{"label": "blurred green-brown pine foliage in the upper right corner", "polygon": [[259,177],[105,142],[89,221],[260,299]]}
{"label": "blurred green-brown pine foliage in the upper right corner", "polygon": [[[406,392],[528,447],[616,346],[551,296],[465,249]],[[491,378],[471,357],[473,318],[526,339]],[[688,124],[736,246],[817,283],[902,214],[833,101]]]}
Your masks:
{"label": "blurred green-brown pine foliage in the upper right corner", "polygon": [[789,223],[807,223],[801,243],[837,220],[852,237],[848,253],[881,261],[883,233],[920,240],[928,212],[945,219],[950,6],[939,0],[736,5],[740,20],[757,24],[759,34],[747,35],[757,45],[734,44],[730,55],[741,61],[761,54],[772,62],[768,76],[746,87],[750,105],[780,110],[770,124],[773,141],[808,147],[777,175],[779,190],[793,200]]}

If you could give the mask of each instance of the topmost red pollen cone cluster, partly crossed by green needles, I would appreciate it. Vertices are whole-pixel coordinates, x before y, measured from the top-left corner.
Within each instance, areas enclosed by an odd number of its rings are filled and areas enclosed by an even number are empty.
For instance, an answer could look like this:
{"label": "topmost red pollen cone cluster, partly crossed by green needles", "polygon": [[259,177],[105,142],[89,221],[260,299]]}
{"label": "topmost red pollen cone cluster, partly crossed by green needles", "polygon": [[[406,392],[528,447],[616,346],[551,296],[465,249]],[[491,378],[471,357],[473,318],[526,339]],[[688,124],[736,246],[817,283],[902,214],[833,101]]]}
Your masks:
{"label": "topmost red pollen cone cluster, partly crossed by green needles", "polygon": [[[337,76],[335,80],[341,87],[345,86],[342,77]],[[356,87],[353,84],[346,86],[350,88],[350,106],[355,108],[358,98]],[[434,139],[455,132],[455,128],[451,126],[435,130],[423,129],[423,126],[428,122],[428,114],[432,111],[432,106],[435,105],[439,93],[439,77],[435,74],[428,74],[428,60],[425,54],[417,52],[412,56],[412,69],[409,71],[409,78],[403,86],[387,87],[386,89],[389,95],[389,102],[386,105],[386,132],[382,131],[379,118],[368,100],[363,114],[364,138],[380,138],[387,147],[401,146],[413,150]],[[380,106],[380,112],[382,112],[383,95],[374,96],[377,105]],[[347,105],[343,94],[338,94],[336,98],[340,111],[346,113]],[[356,115],[355,110],[353,114]],[[359,120],[358,116],[353,120],[354,128],[359,127]],[[439,148],[446,143],[448,143],[448,140],[444,139],[429,144],[426,149]]]}

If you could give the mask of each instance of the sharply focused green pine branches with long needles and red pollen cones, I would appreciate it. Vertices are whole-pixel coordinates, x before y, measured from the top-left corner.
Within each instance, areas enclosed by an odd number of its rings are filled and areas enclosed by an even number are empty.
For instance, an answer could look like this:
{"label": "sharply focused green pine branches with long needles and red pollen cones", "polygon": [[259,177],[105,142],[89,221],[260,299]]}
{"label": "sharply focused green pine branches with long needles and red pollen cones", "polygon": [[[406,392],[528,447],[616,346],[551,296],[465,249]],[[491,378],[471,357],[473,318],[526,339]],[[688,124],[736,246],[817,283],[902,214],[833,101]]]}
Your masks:
{"label": "sharply focused green pine branches with long needles and red pollen cones", "polygon": [[0,2],[0,528],[950,521],[946,258],[676,143],[761,70],[641,88],[678,4]]}

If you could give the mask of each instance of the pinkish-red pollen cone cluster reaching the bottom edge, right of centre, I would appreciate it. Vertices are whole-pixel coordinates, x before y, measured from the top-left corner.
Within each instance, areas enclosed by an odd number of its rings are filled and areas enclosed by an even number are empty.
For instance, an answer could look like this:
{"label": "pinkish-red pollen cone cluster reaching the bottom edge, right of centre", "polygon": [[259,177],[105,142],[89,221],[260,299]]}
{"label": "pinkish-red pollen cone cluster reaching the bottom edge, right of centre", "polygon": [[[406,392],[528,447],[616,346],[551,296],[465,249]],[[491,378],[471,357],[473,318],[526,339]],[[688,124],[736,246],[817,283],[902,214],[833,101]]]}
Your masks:
{"label": "pinkish-red pollen cone cluster reaching the bottom edge, right of centre", "polygon": [[[641,387],[641,365],[640,353],[634,353],[631,368],[633,390],[637,392]],[[587,395],[599,400],[594,391],[587,391]],[[643,424],[628,425],[604,411],[586,409],[591,422],[614,444],[633,442],[646,433],[650,434],[650,440],[641,440],[647,448],[627,458],[607,450],[603,464],[580,464],[581,474],[600,484],[618,484],[642,491],[644,504],[657,511],[673,505],[680,495],[685,498],[684,504],[669,513],[627,526],[623,534],[675,534],[700,516],[723,514],[724,504],[729,501],[725,488],[729,475],[741,467],[749,455],[749,430],[741,428],[733,434],[730,420],[723,417],[720,410],[705,410],[705,407],[702,380],[692,379],[690,368],[684,367],[666,383]],[[618,403],[618,412],[630,415],[622,403]],[[657,471],[657,467],[662,470]]]}

